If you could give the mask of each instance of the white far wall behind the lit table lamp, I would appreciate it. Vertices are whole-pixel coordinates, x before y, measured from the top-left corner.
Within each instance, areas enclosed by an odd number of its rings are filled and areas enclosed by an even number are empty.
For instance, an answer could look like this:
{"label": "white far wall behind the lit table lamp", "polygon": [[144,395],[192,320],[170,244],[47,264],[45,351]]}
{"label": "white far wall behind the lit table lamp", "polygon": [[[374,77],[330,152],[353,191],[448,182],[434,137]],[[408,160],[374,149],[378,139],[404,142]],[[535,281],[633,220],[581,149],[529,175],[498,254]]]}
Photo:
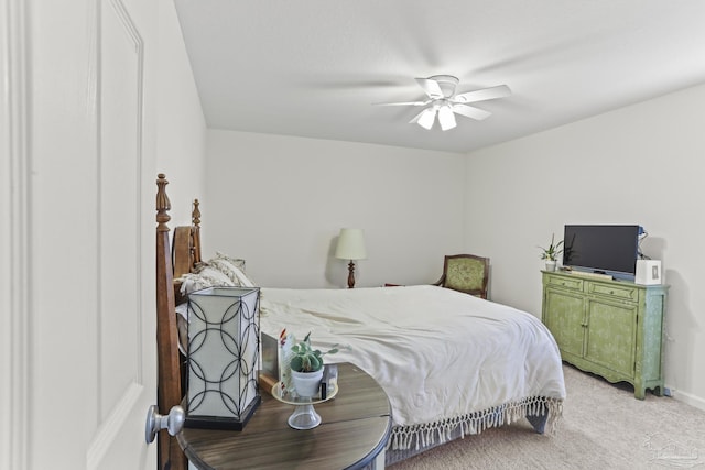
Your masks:
{"label": "white far wall behind the lit table lamp", "polygon": [[210,130],[204,255],[247,260],[269,287],[343,287],[341,227],[365,230],[357,286],[437,281],[463,250],[465,156]]}

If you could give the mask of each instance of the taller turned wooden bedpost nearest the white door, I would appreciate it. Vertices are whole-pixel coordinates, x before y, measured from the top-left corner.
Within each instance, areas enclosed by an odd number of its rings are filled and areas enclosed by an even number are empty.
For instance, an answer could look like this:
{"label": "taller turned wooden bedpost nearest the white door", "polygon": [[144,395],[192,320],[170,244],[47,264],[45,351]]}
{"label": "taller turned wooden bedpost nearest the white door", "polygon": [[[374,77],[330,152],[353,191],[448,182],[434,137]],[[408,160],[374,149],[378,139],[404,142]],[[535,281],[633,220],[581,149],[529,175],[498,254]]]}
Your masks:
{"label": "taller turned wooden bedpost nearest the white door", "polygon": [[[156,179],[156,362],[158,407],[169,413],[181,404],[181,372],[178,365],[178,338],[174,304],[172,254],[169,242],[171,203],[166,196],[169,182],[160,173]],[[186,470],[187,460],[175,437],[159,433],[158,468],[160,470]]]}

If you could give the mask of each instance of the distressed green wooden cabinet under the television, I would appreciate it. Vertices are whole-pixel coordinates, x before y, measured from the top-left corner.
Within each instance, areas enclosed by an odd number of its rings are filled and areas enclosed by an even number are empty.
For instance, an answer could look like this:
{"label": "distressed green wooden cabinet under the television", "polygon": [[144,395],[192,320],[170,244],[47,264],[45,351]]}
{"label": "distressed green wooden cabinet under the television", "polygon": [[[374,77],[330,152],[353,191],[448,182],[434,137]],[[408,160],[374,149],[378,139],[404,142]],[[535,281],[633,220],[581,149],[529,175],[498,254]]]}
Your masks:
{"label": "distressed green wooden cabinet under the television", "polygon": [[541,319],[564,361],[610,382],[629,382],[643,400],[663,394],[665,285],[638,285],[542,271]]}

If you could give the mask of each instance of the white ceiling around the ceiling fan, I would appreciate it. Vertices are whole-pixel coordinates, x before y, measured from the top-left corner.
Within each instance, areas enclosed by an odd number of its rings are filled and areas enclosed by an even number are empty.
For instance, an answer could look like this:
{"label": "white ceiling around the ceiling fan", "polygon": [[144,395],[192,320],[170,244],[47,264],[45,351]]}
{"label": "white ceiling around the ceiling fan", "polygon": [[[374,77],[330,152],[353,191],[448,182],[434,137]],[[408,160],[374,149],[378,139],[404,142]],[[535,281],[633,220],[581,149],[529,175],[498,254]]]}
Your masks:
{"label": "white ceiling around the ceiling fan", "polygon": [[[703,0],[175,4],[210,129],[468,152],[705,83]],[[513,94],[446,132],[372,106],[438,74]]]}

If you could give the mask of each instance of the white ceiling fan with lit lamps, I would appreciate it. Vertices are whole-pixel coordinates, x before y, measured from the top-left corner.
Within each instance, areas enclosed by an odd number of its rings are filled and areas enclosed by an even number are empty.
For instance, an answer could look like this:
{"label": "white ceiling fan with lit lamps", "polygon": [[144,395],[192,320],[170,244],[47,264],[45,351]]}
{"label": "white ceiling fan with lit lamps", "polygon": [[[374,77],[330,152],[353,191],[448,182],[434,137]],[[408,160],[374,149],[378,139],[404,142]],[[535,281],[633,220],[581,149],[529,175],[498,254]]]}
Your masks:
{"label": "white ceiling fan with lit lamps", "polygon": [[419,124],[424,129],[433,128],[436,114],[438,116],[438,124],[441,129],[447,131],[455,128],[454,113],[465,116],[466,118],[482,119],[489,118],[491,112],[484,109],[468,106],[467,103],[485,101],[488,99],[503,98],[511,95],[511,90],[507,85],[499,85],[490,88],[467,91],[463,94],[455,92],[455,87],[459,80],[452,75],[434,75],[429,78],[416,78],[416,83],[425,91],[429,99],[423,101],[406,102],[378,102],[377,106],[427,106],[423,111],[416,114],[410,124]]}

